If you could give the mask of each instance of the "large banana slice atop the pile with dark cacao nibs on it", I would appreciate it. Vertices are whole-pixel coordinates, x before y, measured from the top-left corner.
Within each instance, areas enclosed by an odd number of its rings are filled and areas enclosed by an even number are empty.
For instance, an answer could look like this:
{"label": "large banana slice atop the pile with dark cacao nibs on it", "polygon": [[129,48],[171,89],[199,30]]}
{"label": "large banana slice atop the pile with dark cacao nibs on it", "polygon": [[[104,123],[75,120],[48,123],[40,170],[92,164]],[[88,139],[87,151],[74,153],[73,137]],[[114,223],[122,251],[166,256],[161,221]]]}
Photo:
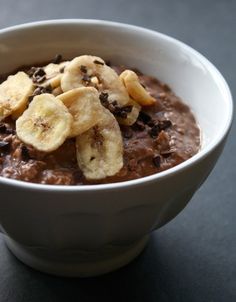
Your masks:
{"label": "large banana slice atop the pile with dark cacao nibs on it", "polygon": [[74,58],[65,68],[61,78],[63,91],[92,86],[99,92],[108,93],[109,102],[120,106],[129,102],[128,93],[118,74],[99,57],[83,55]]}

